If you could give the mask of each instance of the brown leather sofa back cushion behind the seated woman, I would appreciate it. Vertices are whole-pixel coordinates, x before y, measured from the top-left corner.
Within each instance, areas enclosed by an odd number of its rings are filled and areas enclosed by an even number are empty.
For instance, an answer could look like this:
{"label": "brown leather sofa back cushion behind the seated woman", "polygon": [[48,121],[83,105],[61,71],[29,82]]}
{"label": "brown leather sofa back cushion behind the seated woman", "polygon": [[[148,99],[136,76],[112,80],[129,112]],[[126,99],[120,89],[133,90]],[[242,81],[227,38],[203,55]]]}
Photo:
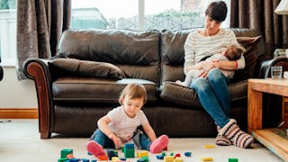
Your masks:
{"label": "brown leather sofa back cushion behind the seated woman", "polygon": [[[197,29],[165,30],[161,32],[162,83],[178,79],[184,80],[184,42],[188,34],[195,30]],[[253,29],[231,30],[235,32],[238,42],[241,40],[239,44],[245,46],[247,49],[247,52],[244,54],[247,66],[245,69],[236,71],[232,80],[233,82],[238,82],[254,76],[257,58],[265,54],[266,48],[263,38],[251,44],[245,44],[245,42],[243,42],[243,39],[245,41],[247,38],[261,36],[259,31]]]}

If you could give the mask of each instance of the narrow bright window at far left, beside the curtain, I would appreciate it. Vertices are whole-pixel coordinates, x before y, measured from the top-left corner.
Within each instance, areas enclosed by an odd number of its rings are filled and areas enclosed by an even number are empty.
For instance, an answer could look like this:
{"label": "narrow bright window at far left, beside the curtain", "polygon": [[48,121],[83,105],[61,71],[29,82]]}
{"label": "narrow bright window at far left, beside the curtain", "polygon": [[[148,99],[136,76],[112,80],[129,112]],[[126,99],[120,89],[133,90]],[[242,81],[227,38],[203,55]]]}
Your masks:
{"label": "narrow bright window at far left, beside the curtain", "polygon": [[0,1],[0,56],[3,65],[15,65],[16,0]]}

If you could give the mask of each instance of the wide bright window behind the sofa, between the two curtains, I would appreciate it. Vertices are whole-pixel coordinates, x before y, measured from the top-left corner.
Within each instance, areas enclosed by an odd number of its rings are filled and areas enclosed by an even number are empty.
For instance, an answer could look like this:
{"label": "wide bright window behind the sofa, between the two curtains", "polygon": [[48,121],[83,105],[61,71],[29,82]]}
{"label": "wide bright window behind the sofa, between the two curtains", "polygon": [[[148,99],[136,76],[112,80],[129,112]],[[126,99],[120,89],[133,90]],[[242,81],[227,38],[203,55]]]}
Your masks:
{"label": "wide bright window behind the sofa, between the two curtains", "polygon": [[[73,29],[175,30],[203,27],[212,0],[73,0]],[[229,0],[226,1],[229,7]],[[228,13],[229,16],[229,13]],[[229,17],[223,27],[229,27]]]}

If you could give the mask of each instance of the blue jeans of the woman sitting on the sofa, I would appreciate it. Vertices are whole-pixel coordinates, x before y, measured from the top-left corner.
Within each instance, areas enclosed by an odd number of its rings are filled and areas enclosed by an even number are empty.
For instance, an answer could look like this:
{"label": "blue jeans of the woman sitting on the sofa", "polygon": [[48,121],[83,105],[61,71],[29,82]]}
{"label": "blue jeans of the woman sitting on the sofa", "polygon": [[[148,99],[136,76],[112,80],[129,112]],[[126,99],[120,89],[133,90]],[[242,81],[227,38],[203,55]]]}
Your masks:
{"label": "blue jeans of the woman sitting on the sofa", "polygon": [[208,72],[208,79],[198,77],[193,80],[190,88],[198,94],[200,103],[211,118],[223,128],[229,122],[230,95],[229,79],[219,68],[212,68]]}

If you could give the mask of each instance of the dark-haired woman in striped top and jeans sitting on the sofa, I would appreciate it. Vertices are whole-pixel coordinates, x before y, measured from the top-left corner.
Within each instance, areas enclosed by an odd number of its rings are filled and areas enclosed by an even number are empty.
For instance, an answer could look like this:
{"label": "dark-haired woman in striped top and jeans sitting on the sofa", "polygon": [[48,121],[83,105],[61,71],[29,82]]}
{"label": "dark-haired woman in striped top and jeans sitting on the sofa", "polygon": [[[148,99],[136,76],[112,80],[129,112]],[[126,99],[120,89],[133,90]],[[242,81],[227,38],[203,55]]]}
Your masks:
{"label": "dark-haired woman in striped top and jeans sitting on the sofa", "polygon": [[184,74],[190,70],[202,70],[195,78],[190,88],[198,94],[202,107],[217,124],[219,132],[217,145],[236,145],[248,148],[253,137],[240,130],[237,122],[229,118],[230,96],[228,90],[229,78],[220,69],[237,70],[245,67],[244,57],[236,61],[204,61],[201,66],[195,66],[207,53],[220,53],[225,47],[238,44],[233,31],[221,29],[220,24],[226,19],[227,5],[222,1],[211,2],[205,11],[205,27],[189,33],[184,43]]}

